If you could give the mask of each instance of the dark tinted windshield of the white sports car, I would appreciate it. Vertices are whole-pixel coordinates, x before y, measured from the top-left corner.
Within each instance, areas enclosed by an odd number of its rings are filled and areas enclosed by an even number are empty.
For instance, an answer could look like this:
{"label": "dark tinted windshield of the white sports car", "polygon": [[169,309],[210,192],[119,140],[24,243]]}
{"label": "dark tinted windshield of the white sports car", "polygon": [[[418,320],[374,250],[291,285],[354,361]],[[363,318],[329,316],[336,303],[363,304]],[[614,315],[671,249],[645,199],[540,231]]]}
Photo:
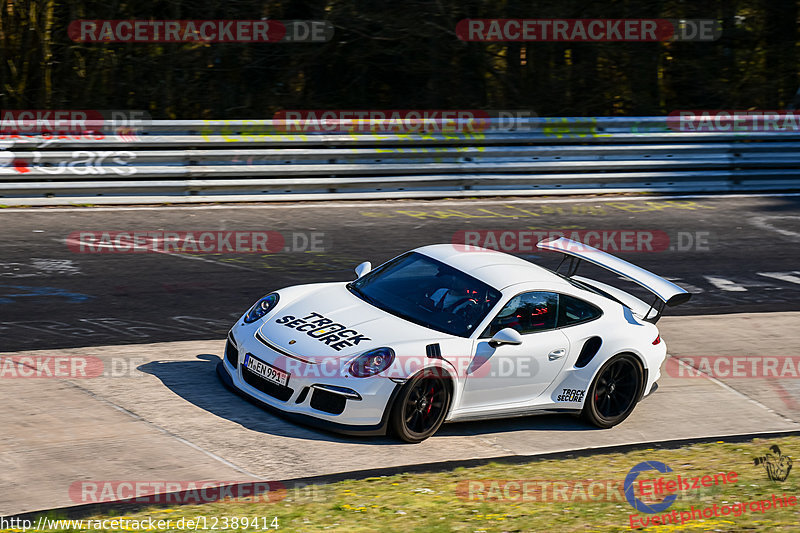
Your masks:
{"label": "dark tinted windshield of the white sports car", "polygon": [[449,265],[410,252],[349,283],[362,300],[409,322],[469,337],[500,291]]}

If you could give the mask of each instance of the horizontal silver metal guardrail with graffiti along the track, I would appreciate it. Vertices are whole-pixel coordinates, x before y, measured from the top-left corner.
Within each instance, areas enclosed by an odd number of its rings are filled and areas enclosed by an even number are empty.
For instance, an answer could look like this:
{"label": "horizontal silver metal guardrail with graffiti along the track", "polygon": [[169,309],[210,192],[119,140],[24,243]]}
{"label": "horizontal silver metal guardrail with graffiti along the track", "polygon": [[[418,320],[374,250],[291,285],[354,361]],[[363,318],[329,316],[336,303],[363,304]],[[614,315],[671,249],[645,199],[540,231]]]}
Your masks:
{"label": "horizontal silver metal guardrail with graffiti along the track", "polygon": [[184,120],[0,134],[0,204],[800,190],[800,131],[676,131],[667,117],[461,126]]}

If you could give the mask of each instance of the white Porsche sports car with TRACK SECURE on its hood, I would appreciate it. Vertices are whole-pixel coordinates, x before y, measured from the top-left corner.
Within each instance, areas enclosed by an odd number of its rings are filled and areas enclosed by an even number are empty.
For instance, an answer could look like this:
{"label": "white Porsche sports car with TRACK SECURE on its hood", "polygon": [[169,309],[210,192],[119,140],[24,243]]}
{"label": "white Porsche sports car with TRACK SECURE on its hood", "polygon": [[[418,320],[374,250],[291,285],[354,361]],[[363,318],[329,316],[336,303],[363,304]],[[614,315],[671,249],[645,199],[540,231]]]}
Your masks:
{"label": "white Porsche sports car with TRACK SECURE on its hood", "polygon": [[[375,270],[362,263],[349,283],[270,293],[231,329],[217,373],[296,420],[406,442],[447,421],[544,412],[619,424],[660,377],[667,349],[656,320],[691,295],[563,237],[538,247],[569,258],[566,274],[438,244]],[[654,302],[576,275],[582,261],[638,283]]]}

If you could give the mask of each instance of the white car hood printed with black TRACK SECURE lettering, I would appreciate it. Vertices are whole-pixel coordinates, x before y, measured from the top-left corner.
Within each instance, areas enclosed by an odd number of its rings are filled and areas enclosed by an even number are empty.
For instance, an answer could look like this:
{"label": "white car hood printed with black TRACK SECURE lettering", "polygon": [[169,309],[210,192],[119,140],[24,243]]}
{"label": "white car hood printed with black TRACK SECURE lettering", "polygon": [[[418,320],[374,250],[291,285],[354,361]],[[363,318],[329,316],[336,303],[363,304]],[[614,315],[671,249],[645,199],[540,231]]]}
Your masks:
{"label": "white car hood printed with black TRACK SECURE lettering", "polygon": [[[262,342],[313,362],[382,346],[397,351],[401,344],[451,338],[374,307],[352,294],[344,283],[323,285],[284,303],[261,326],[259,334]],[[424,350],[424,344],[419,347]]]}

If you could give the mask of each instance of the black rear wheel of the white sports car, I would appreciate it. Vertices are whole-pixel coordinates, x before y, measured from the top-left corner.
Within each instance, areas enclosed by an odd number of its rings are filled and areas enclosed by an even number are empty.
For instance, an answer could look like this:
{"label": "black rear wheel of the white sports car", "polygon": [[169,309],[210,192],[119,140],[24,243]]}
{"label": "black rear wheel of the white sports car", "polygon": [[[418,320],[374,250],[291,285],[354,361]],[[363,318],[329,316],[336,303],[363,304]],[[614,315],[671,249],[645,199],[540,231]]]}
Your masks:
{"label": "black rear wheel of the white sports car", "polygon": [[642,363],[631,354],[609,359],[589,387],[581,418],[604,429],[628,418],[641,396],[643,374]]}

